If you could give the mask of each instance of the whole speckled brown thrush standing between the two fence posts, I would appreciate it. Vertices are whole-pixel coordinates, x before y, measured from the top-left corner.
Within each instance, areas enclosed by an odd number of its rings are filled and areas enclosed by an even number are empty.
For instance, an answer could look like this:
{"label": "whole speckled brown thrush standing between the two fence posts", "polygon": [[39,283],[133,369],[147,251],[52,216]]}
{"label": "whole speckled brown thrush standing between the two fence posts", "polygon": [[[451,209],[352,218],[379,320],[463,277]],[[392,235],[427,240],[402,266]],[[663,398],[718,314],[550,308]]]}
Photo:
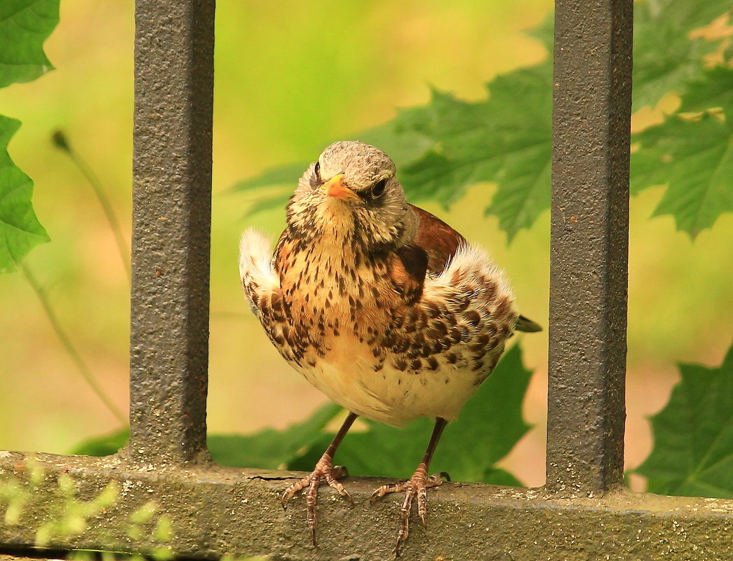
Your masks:
{"label": "whole speckled brown thrush standing between the two fence posts", "polygon": [[492,372],[514,331],[539,331],[517,313],[509,282],[481,246],[407,202],[392,159],[380,148],[339,141],[323,150],[287,203],[287,227],[274,252],[249,229],[240,238],[246,301],[282,357],[349,413],[309,475],[281,496],[283,508],[306,489],[316,541],[318,489],[328,483],[353,505],[334,454],[364,417],[435,428],[413,475],[383,485],[371,502],[403,493],[397,544],[408,538],[417,502],[423,524],[428,476],[443,429]]}

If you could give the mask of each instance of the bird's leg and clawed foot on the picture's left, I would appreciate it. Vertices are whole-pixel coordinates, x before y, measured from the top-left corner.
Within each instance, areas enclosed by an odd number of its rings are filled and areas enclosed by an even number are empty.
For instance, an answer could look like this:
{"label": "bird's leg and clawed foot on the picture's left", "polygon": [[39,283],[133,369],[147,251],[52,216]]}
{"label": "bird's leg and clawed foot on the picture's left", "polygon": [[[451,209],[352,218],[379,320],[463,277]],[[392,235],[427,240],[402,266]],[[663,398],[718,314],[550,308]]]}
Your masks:
{"label": "bird's leg and clawed foot on the picture's left", "polygon": [[357,417],[358,415],[356,413],[349,413],[339,432],[336,433],[334,440],[331,440],[331,444],[328,445],[323,456],[316,463],[313,472],[288,486],[280,499],[282,508],[287,508],[287,501],[295,497],[302,489],[308,487],[308,492],[306,492],[306,507],[308,509],[308,527],[311,530],[313,545],[316,545],[316,506],[318,504],[318,486],[321,480],[325,479],[326,483],[336,489],[339,495],[346,497],[352,506],[354,504],[350,494],[348,494],[344,486],[339,482],[340,478],[348,475],[346,468],[335,466],[333,460],[336,448],[339,448],[339,444],[344,440],[346,433],[349,432],[351,425],[356,421]]}

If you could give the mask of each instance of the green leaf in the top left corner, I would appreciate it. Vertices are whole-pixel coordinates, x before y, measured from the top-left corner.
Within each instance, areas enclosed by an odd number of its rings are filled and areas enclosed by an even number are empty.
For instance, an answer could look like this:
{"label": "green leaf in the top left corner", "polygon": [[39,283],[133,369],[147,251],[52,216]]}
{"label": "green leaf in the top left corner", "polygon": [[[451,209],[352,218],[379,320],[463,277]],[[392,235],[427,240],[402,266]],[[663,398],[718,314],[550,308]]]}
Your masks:
{"label": "green leaf in the top left corner", "polygon": [[43,42],[59,23],[59,0],[0,2],[0,88],[53,69]]}

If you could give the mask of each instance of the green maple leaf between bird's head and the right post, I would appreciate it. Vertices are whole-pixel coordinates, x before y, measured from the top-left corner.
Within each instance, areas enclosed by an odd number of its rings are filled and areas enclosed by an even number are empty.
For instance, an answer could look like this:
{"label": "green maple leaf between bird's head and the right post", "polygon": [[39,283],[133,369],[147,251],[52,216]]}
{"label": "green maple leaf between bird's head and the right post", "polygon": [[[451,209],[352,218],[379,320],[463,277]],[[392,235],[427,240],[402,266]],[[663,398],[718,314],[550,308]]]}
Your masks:
{"label": "green maple leaf between bird's head and the right post", "polygon": [[398,173],[410,198],[444,206],[479,181],[498,183],[486,214],[511,240],[550,206],[552,69],[517,69],[487,90],[487,101],[472,103],[433,92],[424,131],[435,146]]}

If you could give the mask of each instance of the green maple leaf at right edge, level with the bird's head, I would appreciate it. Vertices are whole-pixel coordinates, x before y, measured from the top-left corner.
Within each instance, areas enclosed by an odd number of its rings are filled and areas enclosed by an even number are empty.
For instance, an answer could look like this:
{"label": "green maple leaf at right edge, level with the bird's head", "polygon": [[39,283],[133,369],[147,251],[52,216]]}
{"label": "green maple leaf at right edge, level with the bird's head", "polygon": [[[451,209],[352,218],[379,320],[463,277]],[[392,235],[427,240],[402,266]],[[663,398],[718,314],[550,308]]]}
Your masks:
{"label": "green maple leaf at right edge, level with the bird's head", "polygon": [[733,211],[733,130],[730,121],[669,116],[635,136],[632,190],[667,184],[655,216],[671,214],[693,238],[723,212]]}

